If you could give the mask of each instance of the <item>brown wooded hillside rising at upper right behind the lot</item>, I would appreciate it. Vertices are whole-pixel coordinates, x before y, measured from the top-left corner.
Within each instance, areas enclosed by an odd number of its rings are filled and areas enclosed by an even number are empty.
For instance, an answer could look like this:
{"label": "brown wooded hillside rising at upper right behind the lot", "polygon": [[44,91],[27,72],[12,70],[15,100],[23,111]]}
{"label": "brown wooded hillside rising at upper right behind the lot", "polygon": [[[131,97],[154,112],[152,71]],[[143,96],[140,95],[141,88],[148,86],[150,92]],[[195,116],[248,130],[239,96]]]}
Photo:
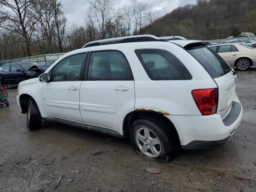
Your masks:
{"label": "brown wooded hillside rising at upper right behind the lot", "polygon": [[[180,30],[175,34],[180,26]],[[157,19],[143,34],[211,40],[256,33],[256,0],[198,0]]]}

